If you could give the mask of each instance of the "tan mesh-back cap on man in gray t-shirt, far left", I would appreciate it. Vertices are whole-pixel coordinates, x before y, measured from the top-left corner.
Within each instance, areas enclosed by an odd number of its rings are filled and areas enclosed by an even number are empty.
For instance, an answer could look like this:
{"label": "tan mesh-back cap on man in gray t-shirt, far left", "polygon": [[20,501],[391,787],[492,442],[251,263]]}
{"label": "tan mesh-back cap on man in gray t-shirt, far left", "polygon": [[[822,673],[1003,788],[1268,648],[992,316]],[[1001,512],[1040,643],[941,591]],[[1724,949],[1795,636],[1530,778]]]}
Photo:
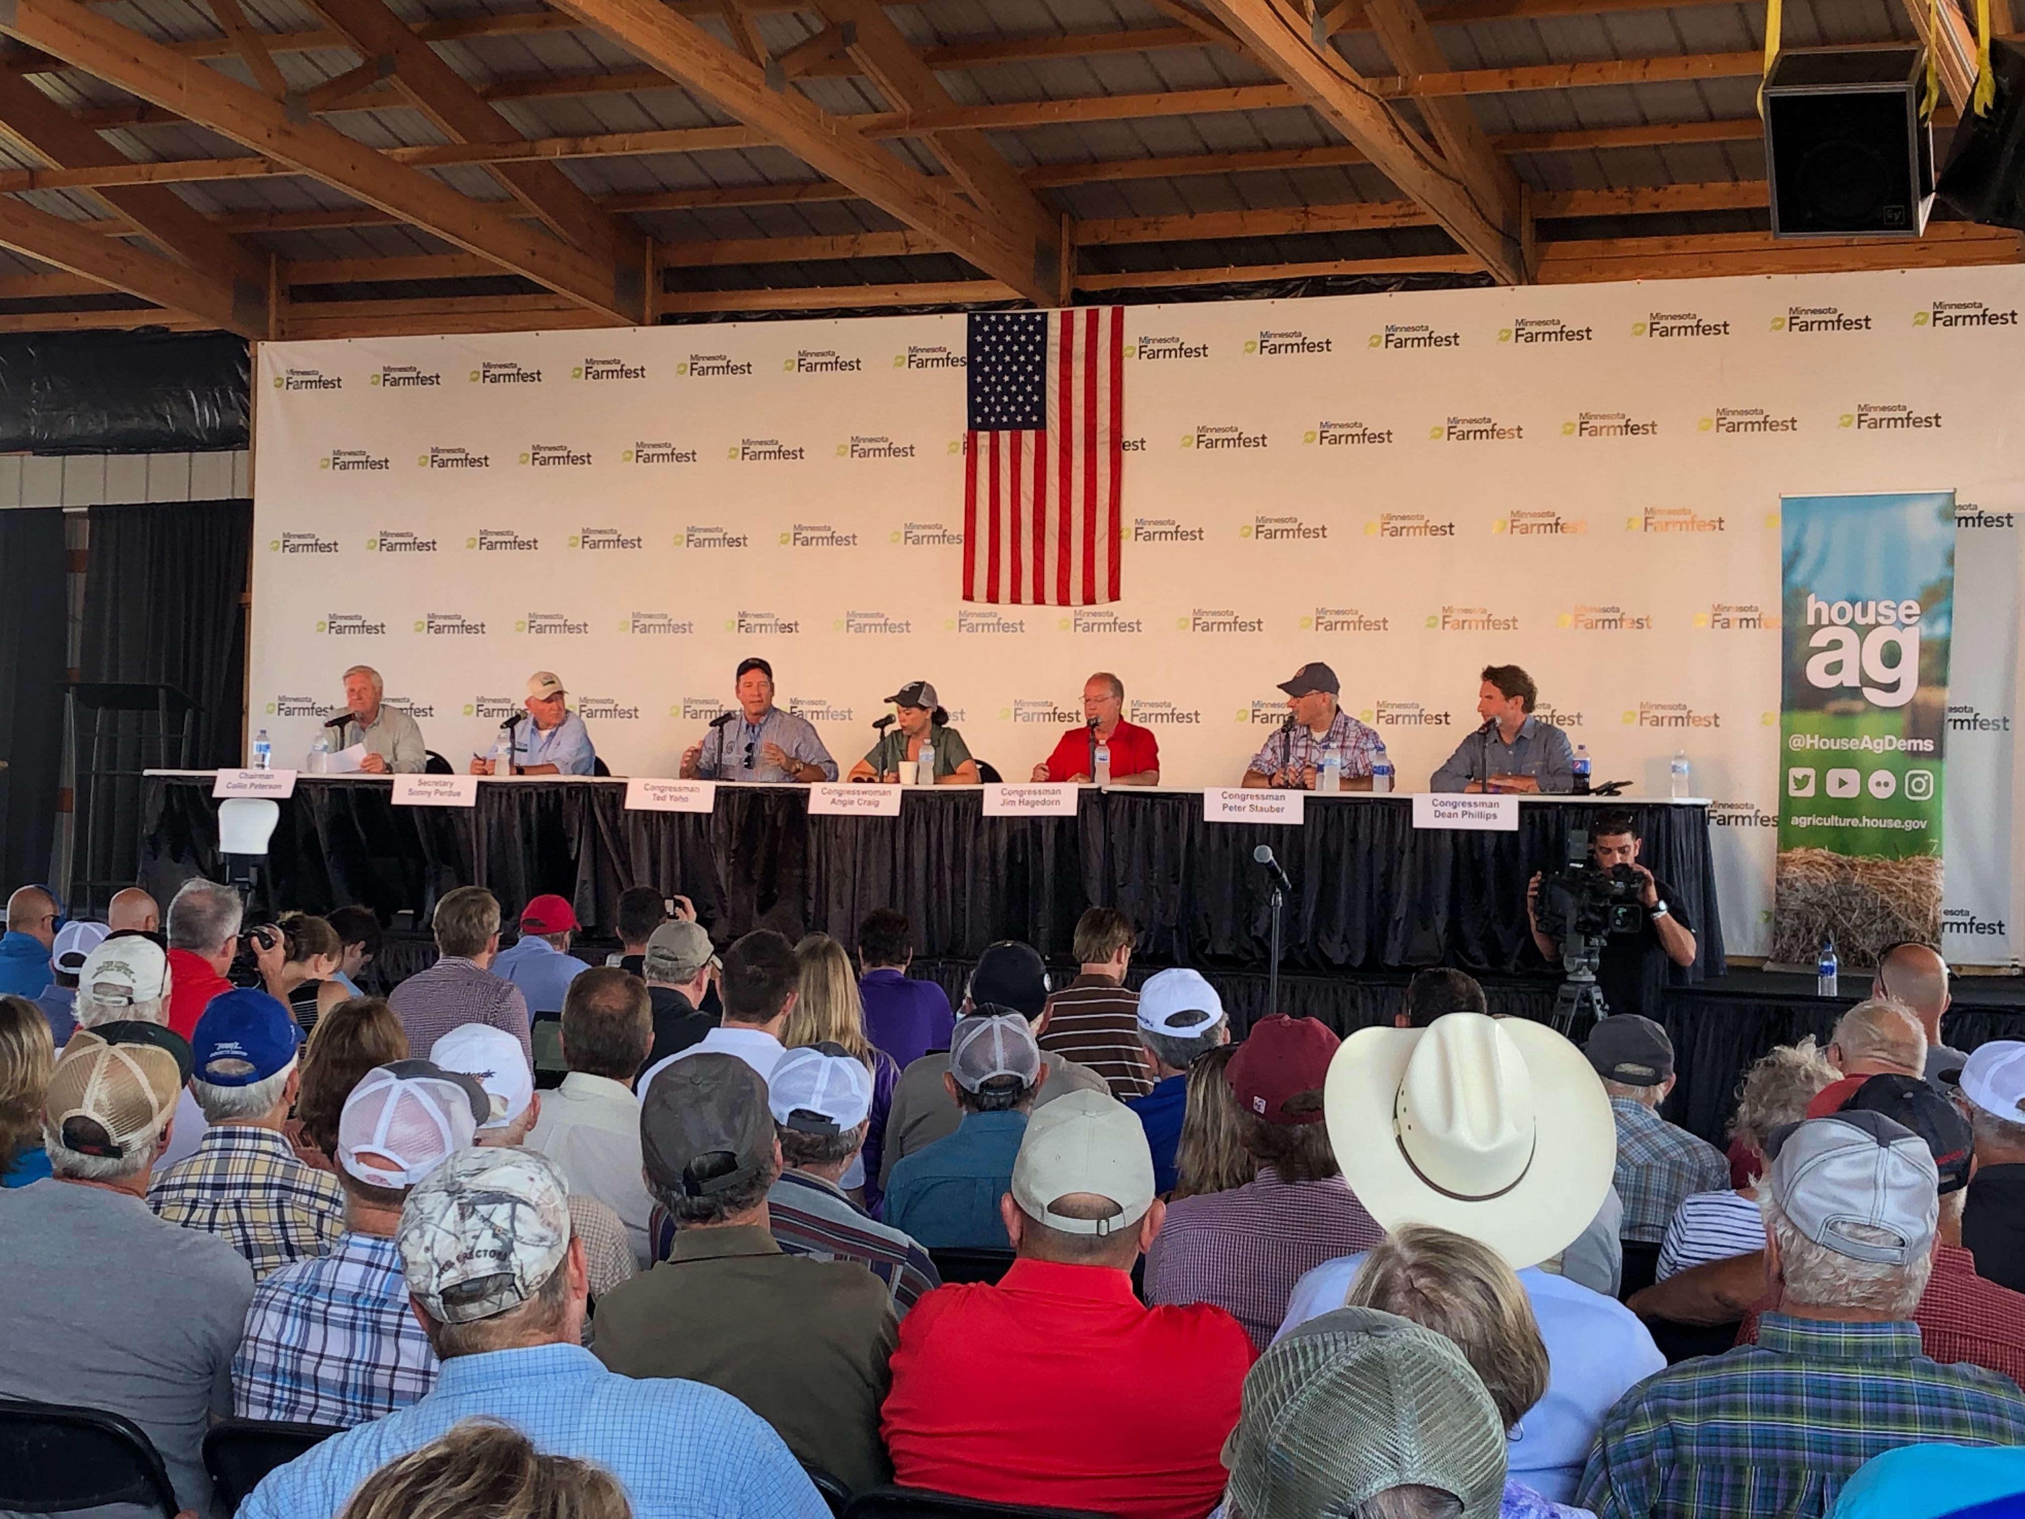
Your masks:
{"label": "tan mesh-back cap on man in gray t-shirt, far left", "polygon": [[43,1118],[67,1150],[122,1158],[150,1142],[190,1080],[190,1047],[160,1023],[79,1029],[57,1057]]}

